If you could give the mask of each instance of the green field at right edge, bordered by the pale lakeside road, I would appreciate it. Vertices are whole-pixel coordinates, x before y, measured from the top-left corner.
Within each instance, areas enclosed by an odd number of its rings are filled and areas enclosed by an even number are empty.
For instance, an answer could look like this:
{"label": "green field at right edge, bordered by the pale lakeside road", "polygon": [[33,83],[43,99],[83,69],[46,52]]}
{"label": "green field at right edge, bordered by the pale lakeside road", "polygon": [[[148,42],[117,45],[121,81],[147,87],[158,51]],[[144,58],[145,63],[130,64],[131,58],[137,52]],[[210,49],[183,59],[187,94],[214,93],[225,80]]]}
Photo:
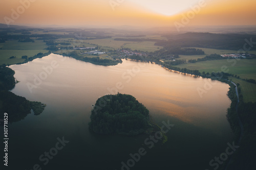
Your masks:
{"label": "green field at right edge, bordered by the pale lakeside road", "polygon": [[256,102],[256,84],[246,82],[241,79],[229,77],[234,83],[239,83],[241,86],[241,94],[243,94],[244,102]]}

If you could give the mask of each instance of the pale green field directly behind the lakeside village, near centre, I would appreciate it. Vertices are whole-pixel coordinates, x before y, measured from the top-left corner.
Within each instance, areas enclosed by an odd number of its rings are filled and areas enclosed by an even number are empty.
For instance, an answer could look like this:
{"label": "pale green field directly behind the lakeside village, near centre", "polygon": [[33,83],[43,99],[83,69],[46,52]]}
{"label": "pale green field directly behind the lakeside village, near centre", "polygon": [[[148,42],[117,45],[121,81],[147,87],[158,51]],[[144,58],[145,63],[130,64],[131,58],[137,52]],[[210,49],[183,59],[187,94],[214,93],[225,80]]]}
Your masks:
{"label": "pale green field directly behind the lakeside village, near centre", "polygon": [[132,50],[140,50],[143,52],[155,52],[163,48],[162,46],[154,45],[155,42],[153,41],[142,41],[142,42],[130,42],[126,43],[123,47],[124,48],[131,48]]}

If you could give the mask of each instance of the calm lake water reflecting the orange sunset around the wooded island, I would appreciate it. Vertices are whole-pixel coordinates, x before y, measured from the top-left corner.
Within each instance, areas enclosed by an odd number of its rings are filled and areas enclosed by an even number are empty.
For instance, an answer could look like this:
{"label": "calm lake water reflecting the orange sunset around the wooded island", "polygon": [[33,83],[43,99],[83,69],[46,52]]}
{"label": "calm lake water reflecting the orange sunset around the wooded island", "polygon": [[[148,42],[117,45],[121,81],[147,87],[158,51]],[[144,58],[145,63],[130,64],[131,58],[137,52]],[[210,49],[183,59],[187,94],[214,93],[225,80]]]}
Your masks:
{"label": "calm lake water reflecting the orange sunset around the wooded island", "polygon": [[[100,66],[54,54],[10,68],[20,81],[12,92],[47,104],[42,114],[29,114],[10,125],[9,164],[13,168],[33,169],[38,164],[42,169],[121,169],[121,162],[127,163],[130,154],[144,148],[146,154],[130,169],[213,169],[209,161],[232,142],[226,119],[231,102],[225,83],[152,63],[123,60],[116,66]],[[40,80],[35,81],[36,77]],[[197,89],[207,82],[212,88],[201,98]],[[34,86],[29,89],[28,83]],[[92,105],[100,96],[117,91],[135,96],[159,126],[163,121],[175,125],[164,145],[154,142],[154,147],[148,148],[144,140],[149,135],[89,131]],[[69,143],[54,153],[58,137]],[[39,159],[50,150],[52,159]]]}

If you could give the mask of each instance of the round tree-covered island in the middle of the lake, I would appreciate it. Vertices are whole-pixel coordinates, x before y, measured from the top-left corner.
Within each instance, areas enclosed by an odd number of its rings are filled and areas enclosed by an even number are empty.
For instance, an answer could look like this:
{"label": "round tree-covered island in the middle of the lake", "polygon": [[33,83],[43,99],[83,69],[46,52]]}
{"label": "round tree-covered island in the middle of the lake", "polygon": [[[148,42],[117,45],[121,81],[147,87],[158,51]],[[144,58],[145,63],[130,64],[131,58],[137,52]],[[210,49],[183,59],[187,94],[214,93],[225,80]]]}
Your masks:
{"label": "round tree-covered island in the middle of the lake", "polygon": [[92,110],[89,127],[99,134],[144,133],[151,125],[149,111],[132,95],[105,95],[99,98]]}

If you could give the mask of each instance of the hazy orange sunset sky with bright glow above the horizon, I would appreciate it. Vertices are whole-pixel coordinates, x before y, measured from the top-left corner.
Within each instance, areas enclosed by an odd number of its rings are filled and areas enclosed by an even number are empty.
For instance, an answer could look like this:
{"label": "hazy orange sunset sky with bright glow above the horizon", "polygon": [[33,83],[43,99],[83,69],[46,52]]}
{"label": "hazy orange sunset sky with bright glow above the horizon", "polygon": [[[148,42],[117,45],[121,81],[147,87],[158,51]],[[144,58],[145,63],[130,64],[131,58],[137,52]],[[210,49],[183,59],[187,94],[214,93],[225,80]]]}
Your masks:
{"label": "hazy orange sunset sky with bright glow above the horizon", "polygon": [[37,26],[256,25],[255,0],[1,0],[0,23]]}

